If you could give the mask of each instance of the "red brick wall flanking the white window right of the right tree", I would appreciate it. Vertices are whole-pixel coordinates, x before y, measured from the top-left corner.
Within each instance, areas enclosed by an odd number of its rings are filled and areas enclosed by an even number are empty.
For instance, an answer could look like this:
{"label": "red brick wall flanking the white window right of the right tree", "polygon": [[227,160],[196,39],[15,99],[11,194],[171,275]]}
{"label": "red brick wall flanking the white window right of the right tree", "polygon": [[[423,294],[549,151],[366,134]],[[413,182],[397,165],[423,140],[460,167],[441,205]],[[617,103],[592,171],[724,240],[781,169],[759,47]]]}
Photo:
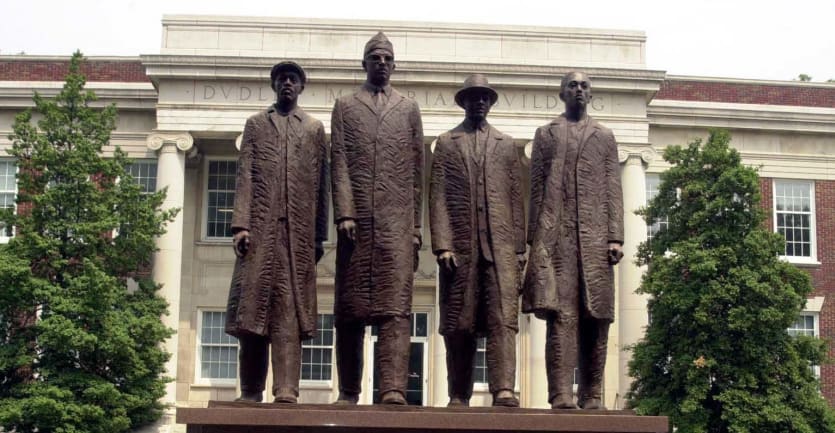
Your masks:
{"label": "red brick wall flanking the white window right of the right tree", "polygon": [[[767,226],[773,230],[773,179],[761,178],[762,204],[766,210]],[[815,181],[815,222],[817,255],[820,266],[803,268],[812,276],[815,291],[812,296],[823,296],[820,312],[820,335],[830,341],[829,356],[835,359],[835,181]],[[821,388],[830,405],[835,406],[835,364],[821,368]]]}

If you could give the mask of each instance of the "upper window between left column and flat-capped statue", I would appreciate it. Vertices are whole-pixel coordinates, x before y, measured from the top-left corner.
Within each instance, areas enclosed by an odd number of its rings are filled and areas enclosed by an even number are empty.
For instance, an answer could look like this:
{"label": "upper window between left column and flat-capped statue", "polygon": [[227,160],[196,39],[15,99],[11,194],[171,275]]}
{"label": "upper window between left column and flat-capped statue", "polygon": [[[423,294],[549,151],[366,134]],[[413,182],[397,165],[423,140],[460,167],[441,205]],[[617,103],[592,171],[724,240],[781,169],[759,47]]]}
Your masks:
{"label": "upper window between left column and flat-capped statue", "polygon": [[235,160],[210,160],[206,188],[206,237],[232,237],[232,212],[235,205]]}

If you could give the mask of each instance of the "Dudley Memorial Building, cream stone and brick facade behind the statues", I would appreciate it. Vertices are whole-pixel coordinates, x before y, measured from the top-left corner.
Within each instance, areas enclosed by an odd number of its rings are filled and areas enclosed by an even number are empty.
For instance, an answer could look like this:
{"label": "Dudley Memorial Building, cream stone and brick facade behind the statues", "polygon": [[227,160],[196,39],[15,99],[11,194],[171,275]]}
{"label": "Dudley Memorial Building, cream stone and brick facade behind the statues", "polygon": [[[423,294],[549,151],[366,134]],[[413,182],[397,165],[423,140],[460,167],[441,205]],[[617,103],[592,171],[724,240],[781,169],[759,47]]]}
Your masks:
{"label": "Dudley Memorial Building, cream stone and brick facade behind the statues", "polygon": [[[425,245],[415,274],[411,403],[444,406],[448,400],[426,212],[428,167],[434,140],[463,119],[453,95],[474,72],[487,75],[498,91],[490,123],[514,137],[526,164],[536,128],[563,110],[560,79],[570,70],[590,75],[590,113],[614,131],[626,256],[616,271],[616,319],[604,379],[607,407],[623,407],[630,382],[630,354],[624,348],[643,335],[648,321],[646,300],[635,294],[644,271],[634,262],[637,246],[665,224],[648,229],[633,211],[657,191],[658,173],[666,168],[663,148],[706,137],[711,127],[728,128],[744,162],[760,167],[768,224],[787,234],[786,260],[813,276],[814,297],[789,332],[835,336],[833,84],[668,76],[646,68],[646,37],[635,31],[168,16],[159,54],[91,58],[83,67],[99,103],[119,107],[112,144],[135,159],[135,178],[148,190],[167,187],[166,206],[182,209],[158,239],[151,271],[171,304],[164,320],[177,331],[168,342],[173,354],[169,374],[176,379],[169,384],[167,401],[202,406],[236,395],[237,345],[224,334],[223,324],[235,259],[230,222],[237,147],[247,117],[275,100],[270,67],[292,59],[305,68],[309,81],[300,105],[329,132],[334,101],[365,80],[363,45],[380,30],[394,44],[397,70],[392,84],[420,106],[426,146]],[[32,92],[55,94],[67,65],[64,57],[0,57],[0,149],[11,146],[14,115],[32,105]],[[11,206],[15,161],[3,155],[0,205]],[[326,254],[318,266],[319,331],[303,349],[304,403],[328,403],[337,395],[332,316],[336,234],[333,224],[329,227]],[[519,328],[516,383],[521,403],[548,407],[544,322],[520,315]],[[367,404],[375,388],[374,330],[368,328],[365,338],[360,403]],[[472,404],[488,405],[483,342],[476,364]],[[835,366],[818,370],[824,395],[835,402]]]}

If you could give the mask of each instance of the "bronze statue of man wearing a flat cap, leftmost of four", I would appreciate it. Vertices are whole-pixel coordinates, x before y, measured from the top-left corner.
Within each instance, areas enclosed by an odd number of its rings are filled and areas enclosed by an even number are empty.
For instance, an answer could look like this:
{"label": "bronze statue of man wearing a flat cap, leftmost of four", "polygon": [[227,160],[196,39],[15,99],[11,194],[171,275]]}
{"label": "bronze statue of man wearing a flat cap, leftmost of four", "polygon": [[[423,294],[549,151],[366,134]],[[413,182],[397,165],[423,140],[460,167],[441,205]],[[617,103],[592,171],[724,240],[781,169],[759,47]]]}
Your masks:
{"label": "bronze statue of man wearing a flat cap, leftmost of four", "polygon": [[316,332],[316,263],[327,239],[328,162],[322,122],[297,105],[304,69],[284,61],[276,102],[247,119],[232,214],[237,260],[226,332],[240,343],[241,396],[259,402],[273,363],[276,403],[296,403],[302,340]]}

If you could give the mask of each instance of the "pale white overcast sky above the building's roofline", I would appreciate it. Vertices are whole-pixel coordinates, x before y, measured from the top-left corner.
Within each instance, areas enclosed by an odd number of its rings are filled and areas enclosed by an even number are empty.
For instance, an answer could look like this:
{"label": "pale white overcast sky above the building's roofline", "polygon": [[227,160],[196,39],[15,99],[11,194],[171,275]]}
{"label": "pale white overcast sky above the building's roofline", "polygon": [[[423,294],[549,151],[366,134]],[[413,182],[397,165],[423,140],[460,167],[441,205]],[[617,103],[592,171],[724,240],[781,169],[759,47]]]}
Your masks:
{"label": "pale white overcast sky above the building's roofline", "polygon": [[3,0],[0,54],[157,54],[168,14],[640,30],[670,75],[835,78],[835,0]]}

